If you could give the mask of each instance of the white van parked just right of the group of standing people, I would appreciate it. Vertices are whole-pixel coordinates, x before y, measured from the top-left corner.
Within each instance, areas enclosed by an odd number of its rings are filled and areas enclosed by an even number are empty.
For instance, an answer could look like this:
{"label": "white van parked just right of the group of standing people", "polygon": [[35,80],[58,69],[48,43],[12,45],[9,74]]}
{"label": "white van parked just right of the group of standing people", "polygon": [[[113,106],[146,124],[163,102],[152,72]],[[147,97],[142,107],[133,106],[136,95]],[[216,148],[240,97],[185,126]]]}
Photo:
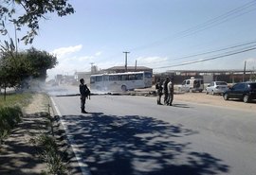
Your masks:
{"label": "white van parked just right of the group of standing people", "polygon": [[204,80],[203,79],[194,79],[193,77],[191,79],[185,79],[183,80],[181,86],[179,87],[179,91],[185,91],[185,92],[200,92],[204,90]]}

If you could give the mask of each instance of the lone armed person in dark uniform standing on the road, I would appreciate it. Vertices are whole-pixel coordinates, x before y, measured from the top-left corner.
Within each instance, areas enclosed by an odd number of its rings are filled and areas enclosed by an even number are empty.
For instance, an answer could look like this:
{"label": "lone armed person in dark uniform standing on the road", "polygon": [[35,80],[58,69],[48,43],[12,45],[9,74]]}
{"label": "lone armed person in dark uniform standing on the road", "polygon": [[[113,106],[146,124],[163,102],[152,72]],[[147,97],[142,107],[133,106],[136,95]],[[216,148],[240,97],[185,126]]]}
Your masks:
{"label": "lone armed person in dark uniform standing on the road", "polygon": [[85,100],[86,97],[90,95],[90,90],[87,87],[86,84],[84,84],[84,79],[80,79],[80,85],[79,85],[79,90],[80,90],[80,100],[81,100],[81,113],[82,114],[87,114],[85,111]]}

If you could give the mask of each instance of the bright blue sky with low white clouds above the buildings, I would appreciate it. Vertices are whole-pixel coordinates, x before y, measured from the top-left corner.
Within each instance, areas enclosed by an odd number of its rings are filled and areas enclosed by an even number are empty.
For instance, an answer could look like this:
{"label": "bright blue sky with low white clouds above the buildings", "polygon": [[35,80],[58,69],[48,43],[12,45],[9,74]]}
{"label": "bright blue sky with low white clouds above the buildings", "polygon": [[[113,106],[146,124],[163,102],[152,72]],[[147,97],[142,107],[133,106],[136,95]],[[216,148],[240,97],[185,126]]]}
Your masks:
{"label": "bright blue sky with low white clouds above the buildings", "polygon": [[[59,64],[47,71],[50,78],[90,71],[91,62],[100,69],[124,65],[123,51],[130,52],[128,65],[137,61],[137,65],[151,67],[155,73],[243,69],[245,61],[248,69],[256,69],[256,49],[234,54],[256,46],[256,1],[69,2],[76,12],[62,18],[48,14],[49,20],[41,20],[39,36],[32,44],[56,54]],[[212,53],[203,54],[206,52]],[[193,61],[199,62],[190,63]]]}

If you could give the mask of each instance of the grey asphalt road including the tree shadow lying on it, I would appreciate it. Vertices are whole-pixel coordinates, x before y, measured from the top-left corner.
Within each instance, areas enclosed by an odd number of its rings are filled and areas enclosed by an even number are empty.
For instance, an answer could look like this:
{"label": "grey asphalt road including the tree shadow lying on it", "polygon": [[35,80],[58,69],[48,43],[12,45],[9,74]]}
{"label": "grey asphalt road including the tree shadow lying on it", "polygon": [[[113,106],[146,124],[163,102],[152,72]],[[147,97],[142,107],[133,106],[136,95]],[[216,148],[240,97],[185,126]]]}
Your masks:
{"label": "grey asphalt road including the tree shadow lying on it", "polygon": [[81,166],[94,175],[255,175],[256,114],[155,97],[53,96]]}

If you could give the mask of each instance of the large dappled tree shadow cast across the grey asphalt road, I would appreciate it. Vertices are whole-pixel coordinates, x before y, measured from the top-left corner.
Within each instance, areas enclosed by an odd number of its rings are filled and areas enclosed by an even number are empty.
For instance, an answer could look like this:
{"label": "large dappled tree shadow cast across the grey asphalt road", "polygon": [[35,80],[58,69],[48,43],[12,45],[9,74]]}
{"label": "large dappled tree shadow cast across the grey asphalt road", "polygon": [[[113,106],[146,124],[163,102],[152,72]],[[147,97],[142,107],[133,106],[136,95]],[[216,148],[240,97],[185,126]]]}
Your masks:
{"label": "large dappled tree shadow cast across the grey asphalt road", "polygon": [[182,125],[137,115],[95,113],[63,117],[93,175],[229,172],[229,166],[210,153],[192,151],[189,142],[179,143],[179,138],[198,133]]}

